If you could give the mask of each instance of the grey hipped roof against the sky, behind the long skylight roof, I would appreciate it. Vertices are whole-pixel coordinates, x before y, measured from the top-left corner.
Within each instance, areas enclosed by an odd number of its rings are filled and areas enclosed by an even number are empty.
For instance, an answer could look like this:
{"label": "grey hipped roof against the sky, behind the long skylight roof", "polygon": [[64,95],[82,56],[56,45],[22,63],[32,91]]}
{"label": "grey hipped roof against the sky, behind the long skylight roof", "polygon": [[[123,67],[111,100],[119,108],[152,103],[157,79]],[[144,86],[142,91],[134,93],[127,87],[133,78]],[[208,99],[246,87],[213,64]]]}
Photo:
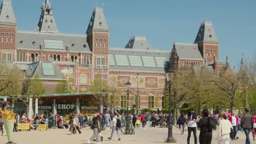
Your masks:
{"label": "grey hipped roof against the sky, behind the long skylight roof", "polygon": [[125,48],[133,50],[153,50],[146,37],[138,36],[131,37]]}

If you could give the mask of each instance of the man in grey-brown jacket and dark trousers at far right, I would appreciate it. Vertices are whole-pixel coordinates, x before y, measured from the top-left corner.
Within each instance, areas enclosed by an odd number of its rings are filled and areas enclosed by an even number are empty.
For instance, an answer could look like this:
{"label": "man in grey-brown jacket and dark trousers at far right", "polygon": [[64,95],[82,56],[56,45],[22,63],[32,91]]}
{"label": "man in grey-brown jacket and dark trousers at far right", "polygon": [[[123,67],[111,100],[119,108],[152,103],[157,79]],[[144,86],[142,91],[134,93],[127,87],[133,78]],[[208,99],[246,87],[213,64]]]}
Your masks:
{"label": "man in grey-brown jacket and dark trousers at far right", "polygon": [[250,142],[250,131],[253,129],[253,117],[249,113],[249,109],[245,109],[245,114],[243,114],[241,119],[241,127],[245,131],[246,134],[246,144],[251,144]]}

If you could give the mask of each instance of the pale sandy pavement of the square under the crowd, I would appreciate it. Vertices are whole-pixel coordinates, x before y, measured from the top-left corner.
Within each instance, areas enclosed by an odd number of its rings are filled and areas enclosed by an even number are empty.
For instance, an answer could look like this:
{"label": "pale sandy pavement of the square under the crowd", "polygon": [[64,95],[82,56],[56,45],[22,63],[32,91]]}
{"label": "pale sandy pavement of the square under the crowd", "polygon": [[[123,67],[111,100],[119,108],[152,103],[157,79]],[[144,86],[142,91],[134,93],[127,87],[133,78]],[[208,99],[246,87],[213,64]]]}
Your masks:
{"label": "pale sandy pavement of the square under the crowd", "polygon": [[[135,135],[123,135],[121,134],[121,141],[118,141],[117,133],[114,134],[113,140],[107,140],[107,137],[110,136],[111,129],[102,131],[104,141],[102,144],[146,144],[146,143],[165,143],[164,140],[167,138],[167,128],[150,128],[149,130],[144,130],[143,128],[135,129]],[[14,142],[18,144],[86,144],[87,140],[92,135],[92,130],[89,128],[83,129],[82,134],[71,135],[68,129],[50,129],[47,131],[19,131],[14,133]],[[200,131],[197,131],[199,135]],[[185,144],[187,143],[187,131],[184,135],[180,134],[180,131],[177,128],[173,128],[174,139],[177,140],[177,143]],[[240,144],[245,143],[245,134],[238,132],[237,136],[240,138],[236,141],[230,141],[230,144]],[[214,140],[212,144],[217,144],[217,131],[213,133]],[[252,134],[250,134],[252,139]],[[198,139],[198,138],[197,138]],[[0,144],[6,143],[7,136],[0,136]],[[96,143],[96,142],[91,142]],[[190,143],[194,143],[194,138],[191,136]],[[198,142],[199,143],[199,142]],[[256,141],[251,142],[256,144]]]}

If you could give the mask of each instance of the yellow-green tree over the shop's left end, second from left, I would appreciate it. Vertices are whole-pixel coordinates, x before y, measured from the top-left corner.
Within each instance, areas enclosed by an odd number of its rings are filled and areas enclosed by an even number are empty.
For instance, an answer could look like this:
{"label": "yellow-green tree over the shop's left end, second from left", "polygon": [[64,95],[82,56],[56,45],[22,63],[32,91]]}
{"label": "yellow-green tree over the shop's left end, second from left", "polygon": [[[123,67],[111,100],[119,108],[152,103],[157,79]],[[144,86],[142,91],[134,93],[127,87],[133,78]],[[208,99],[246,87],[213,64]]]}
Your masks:
{"label": "yellow-green tree over the shop's left end, second from left", "polygon": [[39,76],[34,76],[34,79],[25,79],[23,83],[22,93],[19,99],[24,103],[27,107],[30,104],[30,98],[32,100],[39,97],[41,94],[46,94],[45,89],[43,87],[43,83],[39,79]]}

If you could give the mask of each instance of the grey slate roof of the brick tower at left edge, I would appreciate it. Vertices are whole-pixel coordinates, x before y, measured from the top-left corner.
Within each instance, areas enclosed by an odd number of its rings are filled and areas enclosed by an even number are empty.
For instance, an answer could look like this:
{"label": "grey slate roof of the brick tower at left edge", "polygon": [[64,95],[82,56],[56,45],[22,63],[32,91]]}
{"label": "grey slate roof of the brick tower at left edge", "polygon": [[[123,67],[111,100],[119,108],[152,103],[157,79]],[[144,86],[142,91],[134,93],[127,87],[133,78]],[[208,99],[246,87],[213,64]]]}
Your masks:
{"label": "grey slate roof of the brick tower at left edge", "polygon": [[1,4],[0,23],[8,25],[17,25],[11,0],[3,0]]}

